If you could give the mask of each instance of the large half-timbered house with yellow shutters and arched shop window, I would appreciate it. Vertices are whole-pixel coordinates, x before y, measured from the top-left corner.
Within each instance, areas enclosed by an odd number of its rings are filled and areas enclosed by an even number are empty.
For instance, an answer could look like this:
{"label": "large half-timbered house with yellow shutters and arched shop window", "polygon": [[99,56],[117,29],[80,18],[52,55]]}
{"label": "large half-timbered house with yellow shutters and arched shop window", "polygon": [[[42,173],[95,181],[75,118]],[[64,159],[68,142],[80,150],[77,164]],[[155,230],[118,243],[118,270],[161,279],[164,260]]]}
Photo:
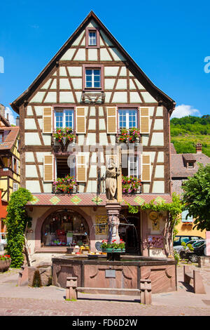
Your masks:
{"label": "large half-timbered house with yellow shutters and arched shop window", "polygon": [[[127,162],[125,180],[141,180],[136,193],[128,190],[120,202],[125,225],[119,231],[127,251],[165,255],[167,215],[143,212],[141,204],[172,202],[169,117],[175,103],[92,11],[11,107],[20,115],[20,184],[34,195],[27,205],[33,218],[28,239],[37,262],[66,252],[69,245],[99,249],[107,237],[104,177],[111,157]],[[123,134],[131,136],[132,128],[135,143],[129,152],[124,143],[122,159],[116,157]],[[76,180],[71,193],[66,181],[64,191],[57,191],[66,176]],[[139,206],[139,212],[129,213],[127,203]]]}

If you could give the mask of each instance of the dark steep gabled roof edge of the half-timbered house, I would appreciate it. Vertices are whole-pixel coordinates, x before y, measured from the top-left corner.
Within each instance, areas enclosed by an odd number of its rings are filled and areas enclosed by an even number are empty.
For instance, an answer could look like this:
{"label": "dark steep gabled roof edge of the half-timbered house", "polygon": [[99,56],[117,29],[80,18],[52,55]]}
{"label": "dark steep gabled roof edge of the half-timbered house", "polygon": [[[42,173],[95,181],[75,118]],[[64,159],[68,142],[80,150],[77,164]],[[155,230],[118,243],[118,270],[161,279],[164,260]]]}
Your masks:
{"label": "dark steep gabled roof edge of the half-timbered house", "polygon": [[49,72],[52,70],[53,67],[55,67],[56,62],[59,61],[59,59],[64,55],[66,50],[71,46],[73,41],[78,37],[81,30],[85,29],[85,27],[88,25],[90,20],[94,19],[99,27],[103,30],[103,32],[111,39],[113,44],[118,48],[118,50],[123,54],[125,57],[125,62],[127,62],[127,66],[129,67],[132,74],[134,74],[137,79],[141,82],[141,84],[146,88],[146,90],[151,93],[153,98],[157,100],[158,102],[162,103],[162,105],[165,105],[167,107],[167,110],[172,112],[174,110],[174,107],[176,103],[172,98],[169,98],[167,94],[165,94],[163,91],[161,91],[157,86],[153,84],[153,82],[148,79],[146,74],[140,69],[140,67],[137,65],[136,62],[130,57],[130,55],[125,51],[125,49],[119,44],[119,42],[113,37],[111,32],[109,32],[109,29],[107,29],[104,24],[97,18],[97,15],[94,14],[93,11],[90,11],[90,13],[87,15],[85,20],[79,25],[79,27],[76,29],[75,32],[71,35],[71,37],[65,42],[65,44],[62,46],[62,48],[59,49],[59,51],[55,54],[55,56],[48,62],[48,65],[45,66],[45,68],[42,70],[40,74],[38,74],[38,77],[33,81],[33,83],[27,88],[27,90],[22,93],[16,100],[13,101],[13,103],[10,103],[11,107],[15,112],[19,113],[19,107],[22,105],[25,101],[28,100],[30,95],[36,91],[36,88],[41,84],[43,79],[49,74]]}

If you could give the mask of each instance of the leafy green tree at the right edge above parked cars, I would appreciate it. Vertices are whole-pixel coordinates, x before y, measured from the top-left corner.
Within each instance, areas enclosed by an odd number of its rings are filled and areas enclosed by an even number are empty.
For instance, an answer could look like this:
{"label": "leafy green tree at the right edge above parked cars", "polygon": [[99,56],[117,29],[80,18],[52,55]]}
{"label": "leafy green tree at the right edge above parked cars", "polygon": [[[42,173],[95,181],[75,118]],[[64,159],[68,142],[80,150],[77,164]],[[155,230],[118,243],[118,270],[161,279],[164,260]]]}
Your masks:
{"label": "leafy green tree at the right edge above parked cars", "polygon": [[198,165],[197,173],[183,185],[183,203],[195,218],[193,228],[210,230],[210,164]]}

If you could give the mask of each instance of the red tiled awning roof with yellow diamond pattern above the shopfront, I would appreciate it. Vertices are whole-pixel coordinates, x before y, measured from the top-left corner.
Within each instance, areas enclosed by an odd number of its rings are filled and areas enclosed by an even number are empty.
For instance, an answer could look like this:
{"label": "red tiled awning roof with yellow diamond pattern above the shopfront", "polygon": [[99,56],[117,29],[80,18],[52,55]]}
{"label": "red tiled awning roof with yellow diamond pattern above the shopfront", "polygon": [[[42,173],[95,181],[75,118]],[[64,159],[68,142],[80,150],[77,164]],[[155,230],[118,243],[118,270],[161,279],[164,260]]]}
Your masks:
{"label": "red tiled awning roof with yellow diamond pattern above the shopfront", "polygon": [[[79,193],[79,194],[33,194],[34,201],[29,202],[28,205],[34,206],[52,206],[52,205],[63,205],[63,206],[105,206],[106,205],[106,194],[100,194],[98,202],[96,194],[92,193]],[[134,194],[134,195],[123,195],[123,202],[121,205],[126,206],[125,202],[131,205],[141,205],[144,202],[149,203],[152,200],[157,202],[172,202],[172,197],[169,194]]]}

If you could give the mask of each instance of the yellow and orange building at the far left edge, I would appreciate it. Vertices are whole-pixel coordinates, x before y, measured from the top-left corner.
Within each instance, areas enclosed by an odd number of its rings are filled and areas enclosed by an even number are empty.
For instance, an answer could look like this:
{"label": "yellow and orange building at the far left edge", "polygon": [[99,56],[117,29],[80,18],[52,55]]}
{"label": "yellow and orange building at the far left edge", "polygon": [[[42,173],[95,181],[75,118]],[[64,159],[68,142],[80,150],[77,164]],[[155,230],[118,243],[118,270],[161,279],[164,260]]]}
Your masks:
{"label": "yellow and orange building at the far left edge", "polygon": [[[17,123],[19,124],[19,123]],[[6,231],[3,218],[10,194],[20,186],[19,126],[11,126],[0,104],[0,235]],[[0,239],[1,239],[0,237]],[[0,241],[1,243],[1,241]]]}

